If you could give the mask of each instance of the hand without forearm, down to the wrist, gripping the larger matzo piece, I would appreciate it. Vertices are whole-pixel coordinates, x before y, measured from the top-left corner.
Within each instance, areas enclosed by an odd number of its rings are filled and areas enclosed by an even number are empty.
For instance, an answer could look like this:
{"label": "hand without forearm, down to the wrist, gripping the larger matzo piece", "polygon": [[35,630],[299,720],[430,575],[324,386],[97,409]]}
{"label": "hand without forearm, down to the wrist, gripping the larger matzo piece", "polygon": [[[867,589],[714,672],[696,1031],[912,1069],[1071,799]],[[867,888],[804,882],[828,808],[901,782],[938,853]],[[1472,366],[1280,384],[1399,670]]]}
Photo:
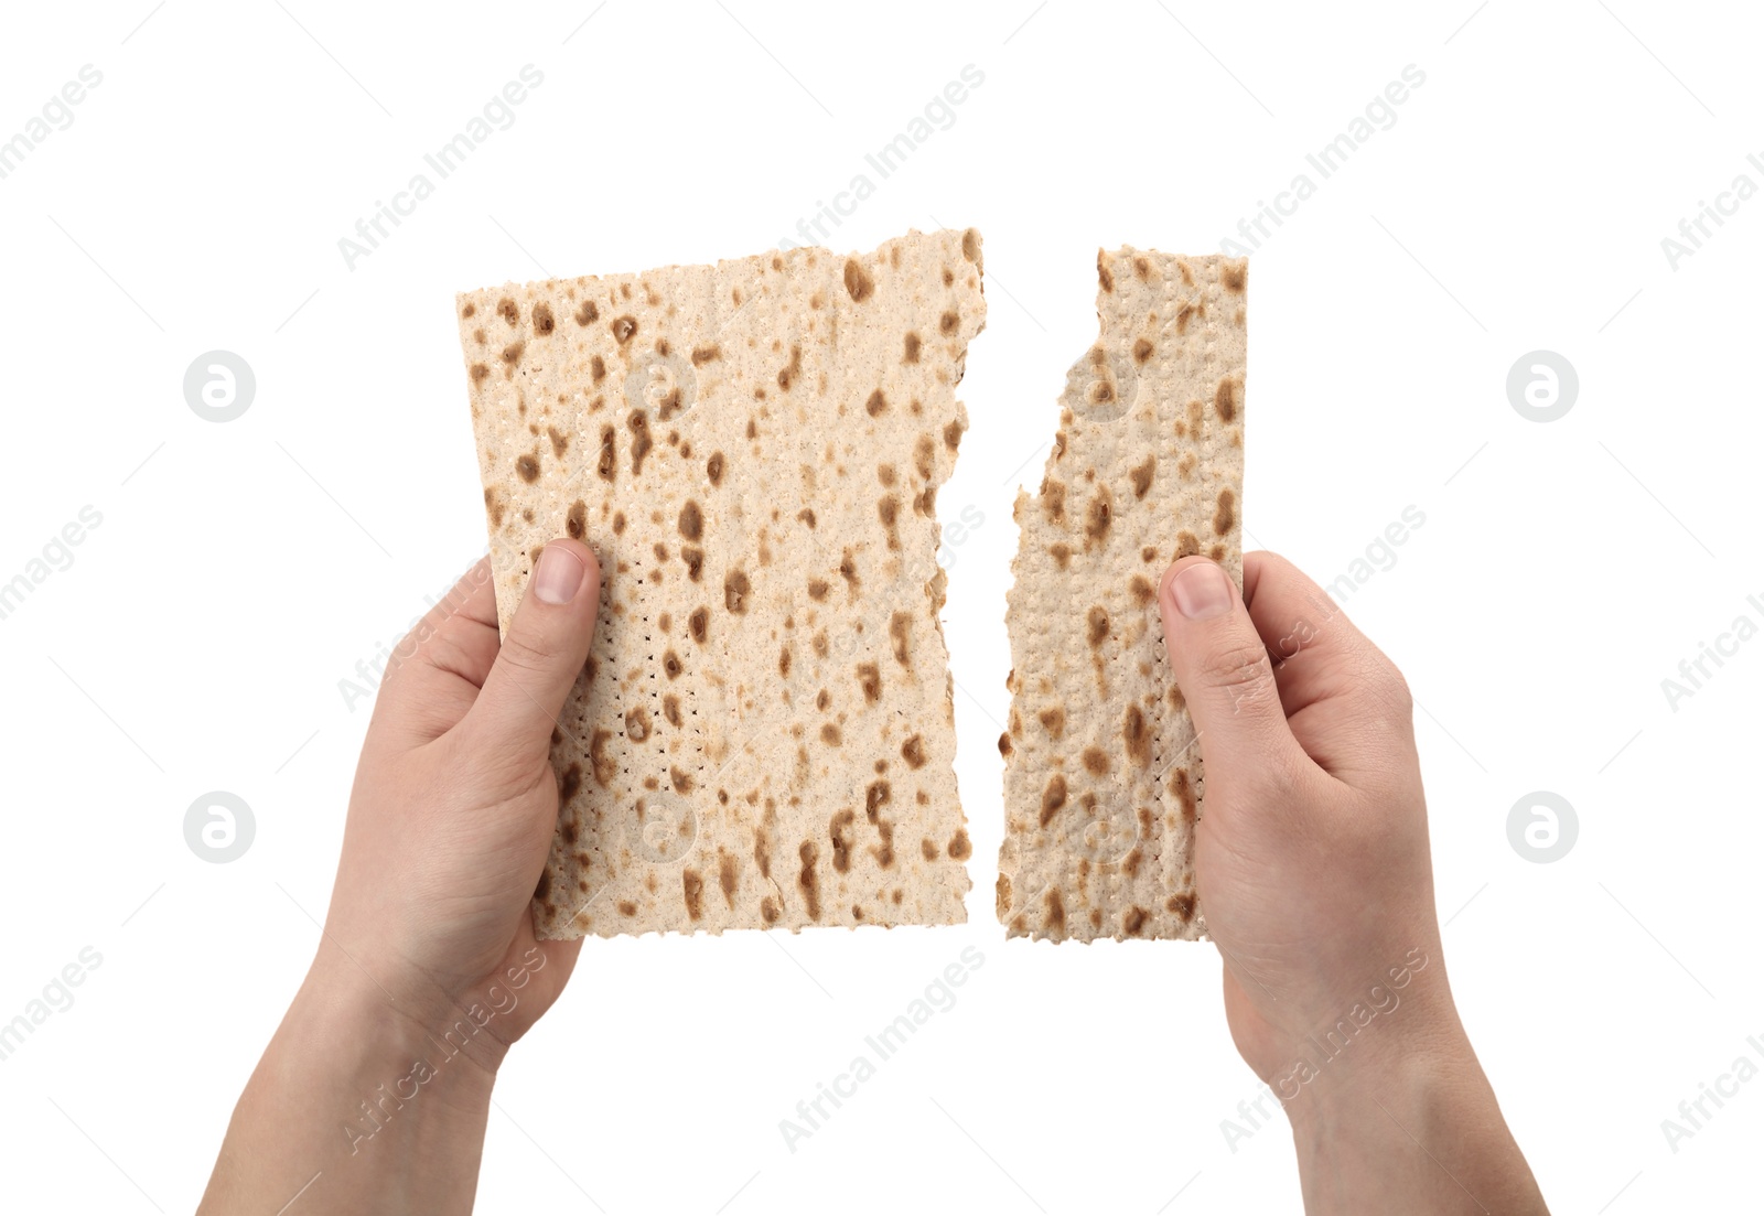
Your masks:
{"label": "hand without forearm, down to the wrist, gripping the larger matzo piece", "polygon": [[[536,941],[529,909],[557,826],[550,736],[598,604],[594,554],[554,540],[497,646],[480,561],[388,669],[349,796],[326,939],[425,1031],[496,1011],[473,1052],[492,1071],[580,951]],[[531,981],[513,990],[522,971]]]}

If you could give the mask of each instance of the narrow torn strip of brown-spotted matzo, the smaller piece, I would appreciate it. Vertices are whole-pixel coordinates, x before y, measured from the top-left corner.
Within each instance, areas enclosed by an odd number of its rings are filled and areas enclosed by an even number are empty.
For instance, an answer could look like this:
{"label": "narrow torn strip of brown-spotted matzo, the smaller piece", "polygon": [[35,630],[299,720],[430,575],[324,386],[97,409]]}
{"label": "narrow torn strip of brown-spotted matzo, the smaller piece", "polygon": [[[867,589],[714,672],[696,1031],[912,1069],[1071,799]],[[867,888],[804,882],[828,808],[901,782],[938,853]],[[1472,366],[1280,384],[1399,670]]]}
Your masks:
{"label": "narrow torn strip of brown-spotted matzo, the smaller piece", "polygon": [[1242,259],[1097,254],[1101,337],[1067,374],[1005,621],[998,920],[1013,937],[1205,934],[1201,759],[1157,584],[1201,552],[1242,584]]}

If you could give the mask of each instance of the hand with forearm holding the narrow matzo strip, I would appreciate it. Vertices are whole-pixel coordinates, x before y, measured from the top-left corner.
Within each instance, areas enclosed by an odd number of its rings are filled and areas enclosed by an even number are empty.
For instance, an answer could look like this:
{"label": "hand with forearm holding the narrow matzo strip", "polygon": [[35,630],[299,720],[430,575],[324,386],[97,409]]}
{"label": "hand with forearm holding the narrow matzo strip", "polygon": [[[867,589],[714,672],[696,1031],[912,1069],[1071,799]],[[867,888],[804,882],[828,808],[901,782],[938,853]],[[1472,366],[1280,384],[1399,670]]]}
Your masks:
{"label": "hand with forearm holding the narrow matzo strip", "polygon": [[1205,766],[1194,870],[1231,1038],[1286,1107],[1309,1212],[1542,1212],[1445,978],[1413,702],[1274,554],[1159,593]]}

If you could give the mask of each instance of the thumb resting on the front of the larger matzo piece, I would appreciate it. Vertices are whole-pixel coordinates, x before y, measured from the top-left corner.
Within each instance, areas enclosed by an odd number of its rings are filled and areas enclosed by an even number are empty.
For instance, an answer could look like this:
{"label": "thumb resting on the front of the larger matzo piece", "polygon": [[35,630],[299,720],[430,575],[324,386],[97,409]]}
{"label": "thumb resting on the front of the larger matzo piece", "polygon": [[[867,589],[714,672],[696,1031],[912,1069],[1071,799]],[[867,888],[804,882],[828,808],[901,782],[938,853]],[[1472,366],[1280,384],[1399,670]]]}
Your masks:
{"label": "thumb resting on the front of the larger matzo piece", "polygon": [[563,701],[587,662],[600,611],[600,563],[579,540],[552,540],[467,722],[499,759],[543,761]]}

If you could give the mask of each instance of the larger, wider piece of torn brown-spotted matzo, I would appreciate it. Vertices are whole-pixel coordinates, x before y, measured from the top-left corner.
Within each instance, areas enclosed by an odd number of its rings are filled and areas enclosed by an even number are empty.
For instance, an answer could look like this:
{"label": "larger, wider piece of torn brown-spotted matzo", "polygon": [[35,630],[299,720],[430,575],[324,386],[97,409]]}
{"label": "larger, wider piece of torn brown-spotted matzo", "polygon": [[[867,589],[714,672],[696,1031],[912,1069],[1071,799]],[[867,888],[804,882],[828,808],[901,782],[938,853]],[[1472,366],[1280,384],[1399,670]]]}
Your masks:
{"label": "larger, wider piece of torn brown-spotted matzo", "polygon": [[542,937],[965,920],[937,487],[981,240],[459,296],[503,628],[603,570]]}

